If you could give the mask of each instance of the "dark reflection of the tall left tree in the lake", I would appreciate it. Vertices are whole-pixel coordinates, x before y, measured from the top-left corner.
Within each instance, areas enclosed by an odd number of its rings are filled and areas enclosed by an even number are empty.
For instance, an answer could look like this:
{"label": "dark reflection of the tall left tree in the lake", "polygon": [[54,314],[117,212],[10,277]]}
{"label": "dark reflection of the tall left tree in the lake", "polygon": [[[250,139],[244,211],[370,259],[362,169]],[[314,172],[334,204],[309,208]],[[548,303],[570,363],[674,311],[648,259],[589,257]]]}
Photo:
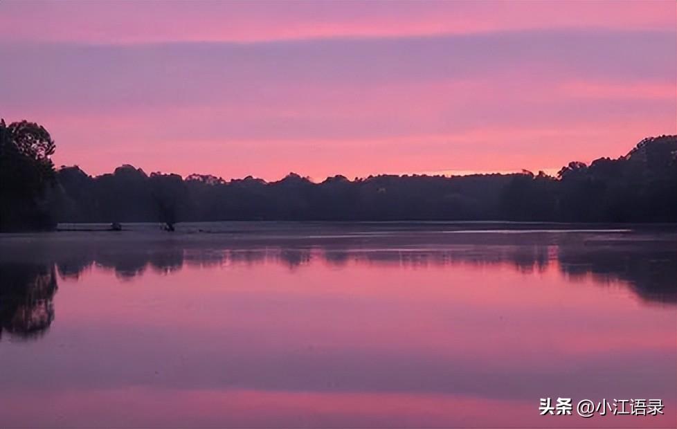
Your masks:
{"label": "dark reflection of the tall left tree in the lake", "polygon": [[42,336],[54,320],[53,264],[0,264],[0,338]]}

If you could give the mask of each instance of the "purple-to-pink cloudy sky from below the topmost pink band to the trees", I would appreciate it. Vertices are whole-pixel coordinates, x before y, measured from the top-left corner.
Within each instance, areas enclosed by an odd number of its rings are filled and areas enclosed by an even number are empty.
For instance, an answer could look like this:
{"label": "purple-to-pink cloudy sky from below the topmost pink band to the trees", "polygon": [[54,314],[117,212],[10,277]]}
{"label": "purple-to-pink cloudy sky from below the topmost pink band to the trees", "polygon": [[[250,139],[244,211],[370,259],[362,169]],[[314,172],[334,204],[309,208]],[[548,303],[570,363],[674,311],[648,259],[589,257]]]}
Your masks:
{"label": "purple-to-pink cloudy sky from below the topmost pink band to the trees", "polygon": [[266,179],[539,170],[677,132],[677,58],[666,55],[676,40],[675,30],[563,28],[4,42],[0,107],[8,120],[43,123],[57,163],[95,173],[127,162]]}

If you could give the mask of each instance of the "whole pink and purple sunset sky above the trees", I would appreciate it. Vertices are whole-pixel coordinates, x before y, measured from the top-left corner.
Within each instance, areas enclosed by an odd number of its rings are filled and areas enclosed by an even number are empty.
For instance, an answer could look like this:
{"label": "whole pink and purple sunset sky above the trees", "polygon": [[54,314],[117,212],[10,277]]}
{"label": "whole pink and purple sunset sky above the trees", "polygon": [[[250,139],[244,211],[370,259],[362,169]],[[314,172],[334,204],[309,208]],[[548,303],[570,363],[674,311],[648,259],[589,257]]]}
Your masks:
{"label": "whole pink and purple sunset sky above the trees", "polygon": [[677,134],[674,1],[0,0],[0,116],[56,165],[556,172]]}

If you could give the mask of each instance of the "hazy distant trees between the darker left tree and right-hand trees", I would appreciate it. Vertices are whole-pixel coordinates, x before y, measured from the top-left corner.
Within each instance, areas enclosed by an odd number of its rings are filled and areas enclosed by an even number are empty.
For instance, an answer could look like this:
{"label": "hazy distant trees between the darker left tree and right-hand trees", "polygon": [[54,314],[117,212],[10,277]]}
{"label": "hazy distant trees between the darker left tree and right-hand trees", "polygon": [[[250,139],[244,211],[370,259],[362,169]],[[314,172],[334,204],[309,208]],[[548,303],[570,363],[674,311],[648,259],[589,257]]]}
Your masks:
{"label": "hazy distant trees between the darker left tree and right-hand trees", "polygon": [[[127,182],[120,168],[134,175]],[[429,220],[498,219],[500,190],[512,176],[336,176],[312,183],[291,173],[267,183],[247,177],[226,182],[211,176],[153,173],[133,167],[89,177],[78,167],[57,176],[68,202],[62,221],[131,222],[226,220]]]}

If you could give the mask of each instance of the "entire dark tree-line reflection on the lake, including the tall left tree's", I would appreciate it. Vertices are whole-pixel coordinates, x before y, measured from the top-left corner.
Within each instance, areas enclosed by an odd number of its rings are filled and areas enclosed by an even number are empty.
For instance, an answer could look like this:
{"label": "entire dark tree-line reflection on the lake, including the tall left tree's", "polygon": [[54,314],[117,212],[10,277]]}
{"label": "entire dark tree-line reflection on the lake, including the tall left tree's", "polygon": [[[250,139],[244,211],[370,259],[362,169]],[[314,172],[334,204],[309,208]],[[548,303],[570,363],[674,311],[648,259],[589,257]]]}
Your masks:
{"label": "entire dark tree-line reflection on the lake, including the tall left tree's", "polygon": [[447,248],[183,248],[70,249],[48,254],[42,264],[0,262],[0,338],[38,338],[54,319],[55,266],[62,279],[77,280],[93,266],[113,271],[120,280],[148,269],[171,274],[183,266],[208,268],[231,264],[282,264],[297,269],[313,261],[343,267],[350,262],[392,266],[498,266],[539,273],[557,266],[570,281],[590,278],[599,285],[621,283],[644,302],[677,304],[677,250],[633,246],[451,246]]}

